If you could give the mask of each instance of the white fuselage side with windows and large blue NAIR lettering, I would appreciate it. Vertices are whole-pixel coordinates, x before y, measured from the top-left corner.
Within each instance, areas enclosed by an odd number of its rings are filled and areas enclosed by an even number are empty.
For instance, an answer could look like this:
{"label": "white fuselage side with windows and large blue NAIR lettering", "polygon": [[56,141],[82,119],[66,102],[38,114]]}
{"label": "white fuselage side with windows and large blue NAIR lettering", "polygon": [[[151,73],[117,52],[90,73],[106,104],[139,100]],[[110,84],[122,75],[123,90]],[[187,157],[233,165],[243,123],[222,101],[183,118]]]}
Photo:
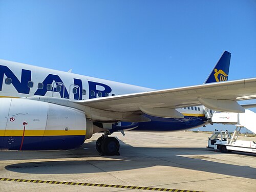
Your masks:
{"label": "white fuselage side with windows and large blue NAIR lettering", "polygon": [[[1,79],[3,79],[2,82]],[[0,97],[49,96],[86,100],[152,90],[131,84],[0,60]],[[194,108],[183,108],[178,111],[188,116],[203,116],[203,106],[200,108],[200,111]]]}

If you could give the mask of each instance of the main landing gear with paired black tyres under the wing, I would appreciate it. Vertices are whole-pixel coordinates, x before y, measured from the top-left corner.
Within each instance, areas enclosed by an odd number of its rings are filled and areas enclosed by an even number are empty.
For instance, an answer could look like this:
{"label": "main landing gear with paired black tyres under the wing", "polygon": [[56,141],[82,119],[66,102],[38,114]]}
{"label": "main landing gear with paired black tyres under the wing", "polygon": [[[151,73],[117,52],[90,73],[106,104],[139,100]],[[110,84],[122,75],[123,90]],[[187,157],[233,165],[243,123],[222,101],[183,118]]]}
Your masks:
{"label": "main landing gear with paired black tyres under the wing", "polygon": [[109,137],[110,132],[105,131],[96,141],[96,150],[100,155],[120,155],[119,141],[115,137]]}

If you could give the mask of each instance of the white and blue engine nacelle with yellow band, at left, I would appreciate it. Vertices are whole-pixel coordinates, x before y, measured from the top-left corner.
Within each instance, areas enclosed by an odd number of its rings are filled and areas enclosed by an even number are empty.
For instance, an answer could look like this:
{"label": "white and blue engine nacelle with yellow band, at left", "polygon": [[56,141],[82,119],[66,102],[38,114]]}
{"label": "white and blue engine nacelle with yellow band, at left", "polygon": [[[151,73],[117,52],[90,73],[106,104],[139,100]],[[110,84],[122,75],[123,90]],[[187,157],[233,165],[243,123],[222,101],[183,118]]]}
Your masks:
{"label": "white and blue engine nacelle with yellow band, at left", "polygon": [[57,104],[0,99],[0,149],[65,150],[99,130],[84,112]]}

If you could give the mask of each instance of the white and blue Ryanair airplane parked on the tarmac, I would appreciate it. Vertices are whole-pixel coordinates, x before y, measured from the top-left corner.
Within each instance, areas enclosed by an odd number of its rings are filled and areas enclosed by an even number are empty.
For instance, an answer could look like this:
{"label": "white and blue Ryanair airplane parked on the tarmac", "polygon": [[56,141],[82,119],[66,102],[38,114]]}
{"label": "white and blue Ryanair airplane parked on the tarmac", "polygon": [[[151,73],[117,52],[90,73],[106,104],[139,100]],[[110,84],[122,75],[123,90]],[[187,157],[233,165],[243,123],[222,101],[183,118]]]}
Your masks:
{"label": "white and blue Ryanair airplane parked on the tarmac", "polygon": [[224,51],[203,84],[165,90],[0,60],[0,150],[68,150],[94,133],[101,155],[118,155],[115,132],[169,132],[211,121],[212,111],[243,113],[256,78],[228,80]]}

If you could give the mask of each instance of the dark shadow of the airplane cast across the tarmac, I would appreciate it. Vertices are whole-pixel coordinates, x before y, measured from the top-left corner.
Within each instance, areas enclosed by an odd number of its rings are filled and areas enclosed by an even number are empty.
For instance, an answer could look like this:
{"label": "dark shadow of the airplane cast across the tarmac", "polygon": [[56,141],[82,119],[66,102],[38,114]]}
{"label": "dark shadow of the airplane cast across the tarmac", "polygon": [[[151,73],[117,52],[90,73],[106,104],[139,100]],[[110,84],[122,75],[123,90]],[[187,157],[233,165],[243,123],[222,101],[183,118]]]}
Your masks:
{"label": "dark shadow of the airplane cast across the tarmac", "polygon": [[[26,174],[82,174],[115,172],[159,165],[235,177],[256,178],[256,168],[215,162],[214,157],[210,158],[204,155],[217,155],[217,152],[206,148],[133,147],[122,141],[120,141],[120,145],[120,156],[100,157],[95,150],[95,141],[84,143],[75,150],[60,151],[62,152],[62,155],[59,154],[60,156],[56,155],[58,152],[29,152],[29,161],[31,159],[48,159],[48,161],[40,160],[10,164],[5,168],[12,172]],[[65,152],[65,155],[63,155],[63,152]],[[2,159],[1,153],[5,152],[0,152],[0,160]],[[11,153],[22,154],[21,152]],[[47,156],[42,158],[46,153]],[[26,159],[24,155],[26,156],[26,153],[23,153],[23,157],[20,159]],[[190,157],[184,157],[183,155]],[[223,154],[218,153],[218,155]],[[97,160],[94,160],[95,157],[98,157]],[[56,161],[58,158],[61,158],[61,160]],[[248,158],[252,158],[252,161],[255,160],[255,157],[249,156]],[[49,159],[53,160],[49,161]],[[14,159],[12,158],[12,160]]]}

